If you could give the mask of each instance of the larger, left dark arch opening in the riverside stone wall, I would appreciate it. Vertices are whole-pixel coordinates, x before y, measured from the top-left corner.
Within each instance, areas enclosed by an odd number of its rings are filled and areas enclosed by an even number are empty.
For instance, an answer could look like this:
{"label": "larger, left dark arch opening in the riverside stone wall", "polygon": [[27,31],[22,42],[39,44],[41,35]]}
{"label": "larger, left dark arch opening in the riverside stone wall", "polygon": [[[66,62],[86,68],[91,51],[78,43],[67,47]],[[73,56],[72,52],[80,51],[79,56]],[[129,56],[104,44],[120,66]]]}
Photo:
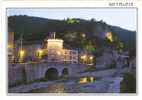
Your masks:
{"label": "larger, left dark arch opening in the riverside stone wall", "polygon": [[56,68],[49,68],[45,73],[45,78],[48,80],[56,80],[58,78],[58,71]]}

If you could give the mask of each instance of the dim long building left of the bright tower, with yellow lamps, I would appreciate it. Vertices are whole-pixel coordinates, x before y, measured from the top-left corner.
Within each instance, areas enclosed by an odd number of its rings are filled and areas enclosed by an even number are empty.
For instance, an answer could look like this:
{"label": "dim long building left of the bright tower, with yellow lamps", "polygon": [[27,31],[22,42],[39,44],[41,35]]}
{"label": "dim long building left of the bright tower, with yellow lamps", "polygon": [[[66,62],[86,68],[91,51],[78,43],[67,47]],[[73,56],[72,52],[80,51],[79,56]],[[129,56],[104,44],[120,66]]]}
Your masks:
{"label": "dim long building left of the bright tower, with yellow lamps", "polygon": [[42,54],[44,54],[44,50],[41,49],[42,41],[23,41],[22,47],[20,41],[16,41],[16,57],[20,60],[20,51],[24,50],[24,56],[22,59],[26,61],[34,61],[42,58]]}

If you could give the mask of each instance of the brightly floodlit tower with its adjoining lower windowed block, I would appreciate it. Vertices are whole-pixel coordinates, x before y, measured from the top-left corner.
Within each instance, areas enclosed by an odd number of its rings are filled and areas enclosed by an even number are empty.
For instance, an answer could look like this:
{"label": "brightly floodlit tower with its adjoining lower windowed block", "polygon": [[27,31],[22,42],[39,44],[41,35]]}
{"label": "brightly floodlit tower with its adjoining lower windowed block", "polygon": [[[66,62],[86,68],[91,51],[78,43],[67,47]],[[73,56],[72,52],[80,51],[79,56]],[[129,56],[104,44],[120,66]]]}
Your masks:
{"label": "brightly floodlit tower with its adjoining lower windowed block", "polygon": [[48,62],[58,63],[78,63],[78,51],[63,48],[63,40],[53,39],[47,40],[47,59]]}

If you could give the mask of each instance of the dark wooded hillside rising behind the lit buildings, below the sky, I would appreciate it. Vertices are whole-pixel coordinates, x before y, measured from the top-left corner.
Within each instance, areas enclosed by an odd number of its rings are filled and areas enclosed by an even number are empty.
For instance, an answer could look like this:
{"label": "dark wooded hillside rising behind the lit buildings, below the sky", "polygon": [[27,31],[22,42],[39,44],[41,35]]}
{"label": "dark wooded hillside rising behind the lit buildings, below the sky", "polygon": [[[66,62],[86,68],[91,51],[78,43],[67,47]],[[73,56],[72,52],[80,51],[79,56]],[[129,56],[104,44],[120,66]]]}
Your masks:
{"label": "dark wooded hillside rising behind the lit buildings, below the sky", "polygon": [[21,34],[24,41],[30,41],[44,40],[51,32],[56,32],[57,38],[64,39],[69,47],[95,50],[104,42],[106,33],[111,32],[113,37],[116,37],[117,43],[122,42],[127,49],[136,48],[135,31],[111,26],[95,19],[53,20],[32,16],[9,16],[8,27],[13,29],[15,41]]}

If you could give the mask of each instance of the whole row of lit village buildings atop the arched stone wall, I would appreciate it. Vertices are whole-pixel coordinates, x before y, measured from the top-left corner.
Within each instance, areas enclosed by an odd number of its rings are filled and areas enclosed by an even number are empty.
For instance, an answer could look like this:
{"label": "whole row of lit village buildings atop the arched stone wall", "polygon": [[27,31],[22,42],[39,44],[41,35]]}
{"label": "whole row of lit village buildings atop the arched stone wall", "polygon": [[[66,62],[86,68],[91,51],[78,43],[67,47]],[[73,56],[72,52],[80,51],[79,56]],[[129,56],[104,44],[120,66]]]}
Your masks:
{"label": "whole row of lit village buildings atop the arched stone wall", "polygon": [[93,65],[94,56],[84,50],[65,48],[62,39],[51,38],[43,41],[24,41],[22,37],[14,42],[14,32],[9,32],[8,58],[14,62],[37,62],[63,64],[88,64]]}

